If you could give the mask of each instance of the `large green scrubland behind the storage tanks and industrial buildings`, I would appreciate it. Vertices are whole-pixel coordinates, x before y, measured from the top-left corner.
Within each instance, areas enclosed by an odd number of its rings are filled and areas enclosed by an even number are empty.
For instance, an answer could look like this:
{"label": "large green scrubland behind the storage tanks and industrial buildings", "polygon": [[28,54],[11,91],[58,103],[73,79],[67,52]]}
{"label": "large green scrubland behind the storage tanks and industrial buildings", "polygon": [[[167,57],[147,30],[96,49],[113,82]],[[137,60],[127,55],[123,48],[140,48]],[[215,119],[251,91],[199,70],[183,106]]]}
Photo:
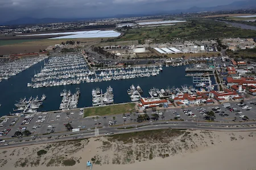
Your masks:
{"label": "large green scrubland behind the storage tanks and industrial buildings", "polygon": [[217,22],[213,19],[187,19],[187,23],[162,27],[133,28],[125,31],[122,37],[115,41],[146,39],[152,42],[167,42],[172,40],[201,40],[224,37],[253,37],[256,31],[230,27],[229,24]]}

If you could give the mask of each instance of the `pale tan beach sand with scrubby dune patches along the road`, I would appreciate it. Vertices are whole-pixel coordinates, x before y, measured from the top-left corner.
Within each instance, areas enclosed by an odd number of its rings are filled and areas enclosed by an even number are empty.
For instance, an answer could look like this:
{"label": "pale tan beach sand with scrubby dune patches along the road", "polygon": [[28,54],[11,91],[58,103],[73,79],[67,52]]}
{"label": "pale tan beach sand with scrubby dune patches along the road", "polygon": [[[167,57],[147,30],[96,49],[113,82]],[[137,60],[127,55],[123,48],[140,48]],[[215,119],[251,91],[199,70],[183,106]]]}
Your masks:
{"label": "pale tan beach sand with scrubby dune patches along the road", "polygon": [[[151,135],[152,139],[139,134],[139,137],[126,136],[125,141],[119,137],[100,137],[89,141],[85,139],[2,149],[0,169],[79,170],[85,169],[86,162],[92,158],[96,159],[93,164],[96,170],[256,169],[254,131],[232,133],[187,130],[181,133],[175,131],[175,134],[163,131],[167,135],[162,138],[159,137],[163,135],[161,133],[158,131],[158,135]],[[36,152],[41,149],[47,150],[47,154],[37,156]],[[55,163],[50,164],[52,159]],[[62,162],[66,159],[73,159],[76,164],[64,167]],[[22,168],[20,164],[24,160],[27,163]],[[37,160],[38,164],[35,164]],[[96,165],[96,161],[101,165]]]}

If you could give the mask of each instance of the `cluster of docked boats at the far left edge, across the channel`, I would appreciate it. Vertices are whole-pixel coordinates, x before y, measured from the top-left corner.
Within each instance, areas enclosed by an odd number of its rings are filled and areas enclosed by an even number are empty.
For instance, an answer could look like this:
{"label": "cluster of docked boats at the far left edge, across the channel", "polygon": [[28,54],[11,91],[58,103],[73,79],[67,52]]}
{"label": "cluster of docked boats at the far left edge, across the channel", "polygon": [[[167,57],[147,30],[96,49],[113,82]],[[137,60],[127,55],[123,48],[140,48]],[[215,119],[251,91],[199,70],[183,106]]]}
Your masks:
{"label": "cluster of docked boats at the far left edge, across the channel", "polygon": [[14,76],[46,58],[48,57],[26,57],[0,63],[0,82],[2,79],[9,79],[10,76]]}

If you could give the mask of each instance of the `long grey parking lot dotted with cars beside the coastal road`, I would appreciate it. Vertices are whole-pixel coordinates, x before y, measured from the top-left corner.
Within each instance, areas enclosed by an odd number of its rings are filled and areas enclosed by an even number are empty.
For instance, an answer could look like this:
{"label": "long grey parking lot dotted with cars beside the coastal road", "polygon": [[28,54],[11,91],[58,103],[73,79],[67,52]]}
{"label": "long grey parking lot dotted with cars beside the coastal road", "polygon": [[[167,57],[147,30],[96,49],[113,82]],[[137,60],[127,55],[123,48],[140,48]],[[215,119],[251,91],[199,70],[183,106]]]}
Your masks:
{"label": "long grey parking lot dotted with cars beside the coastal road", "polygon": [[[245,105],[248,105],[247,109],[243,109],[245,106],[238,106],[238,102],[230,102],[230,108],[224,108],[223,105],[214,106],[202,106],[202,107],[186,107],[181,108],[168,108],[160,109],[158,112],[151,110],[147,111],[148,116],[152,117],[152,114],[159,114],[159,121],[170,120],[184,120],[184,121],[204,121],[205,113],[213,111],[218,122],[240,122],[250,120],[256,120],[256,104],[252,104],[254,101],[245,101]],[[251,109],[248,109],[251,108]],[[233,109],[233,110],[230,110]],[[73,128],[80,128],[80,130],[93,129],[93,128],[105,128],[112,125],[126,125],[137,122],[137,117],[140,113],[126,113],[118,114],[114,116],[103,117],[86,117],[82,118],[82,111],[77,109],[76,111],[65,112],[53,112],[53,113],[40,113],[34,115],[27,115],[24,117],[11,117],[2,127],[0,131],[6,135],[6,138],[10,138],[14,135],[16,130],[31,131],[32,135],[48,134],[56,132],[65,132],[65,124],[68,122]],[[152,121],[152,120],[150,120]],[[15,122],[11,125],[11,122]]]}

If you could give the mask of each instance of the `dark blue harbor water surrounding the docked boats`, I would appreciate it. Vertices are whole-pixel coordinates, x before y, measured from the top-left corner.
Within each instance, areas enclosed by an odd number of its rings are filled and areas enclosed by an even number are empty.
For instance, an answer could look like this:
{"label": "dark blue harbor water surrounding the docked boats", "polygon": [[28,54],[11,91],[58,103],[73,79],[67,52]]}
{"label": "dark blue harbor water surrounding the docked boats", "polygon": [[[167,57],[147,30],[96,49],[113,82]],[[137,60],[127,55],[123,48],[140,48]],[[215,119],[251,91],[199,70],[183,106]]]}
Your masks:
{"label": "dark blue harbor water surrounding the docked boats", "polygon": [[[192,77],[185,76],[185,67],[163,67],[163,71],[157,76],[149,76],[144,78],[123,79],[123,80],[110,80],[105,82],[93,82],[93,83],[80,83],[70,84],[65,86],[53,86],[43,88],[31,88],[27,87],[27,83],[31,82],[31,78],[35,73],[41,70],[44,66],[44,61],[31,66],[29,69],[22,71],[15,76],[11,76],[8,80],[2,80],[0,83],[0,116],[13,113],[15,109],[14,104],[21,98],[27,99],[38,96],[39,98],[45,94],[46,100],[43,101],[42,107],[38,111],[55,111],[59,110],[61,97],[60,93],[65,90],[71,90],[72,94],[76,92],[76,88],[80,88],[80,99],[77,107],[90,107],[92,106],[92,90],[99,87],[103,91],[106,91],[108,86],[113,88],[114,103],[126,103],[130,102],[130,96],[127,95],[127,89],[131,84],[141,86],[143,90],[143,97],[150,97],[148,91],[155,88],[167,88],[167,87],[181,87],[192,86]],[[213,81],[214,84],[215,81]]]}

